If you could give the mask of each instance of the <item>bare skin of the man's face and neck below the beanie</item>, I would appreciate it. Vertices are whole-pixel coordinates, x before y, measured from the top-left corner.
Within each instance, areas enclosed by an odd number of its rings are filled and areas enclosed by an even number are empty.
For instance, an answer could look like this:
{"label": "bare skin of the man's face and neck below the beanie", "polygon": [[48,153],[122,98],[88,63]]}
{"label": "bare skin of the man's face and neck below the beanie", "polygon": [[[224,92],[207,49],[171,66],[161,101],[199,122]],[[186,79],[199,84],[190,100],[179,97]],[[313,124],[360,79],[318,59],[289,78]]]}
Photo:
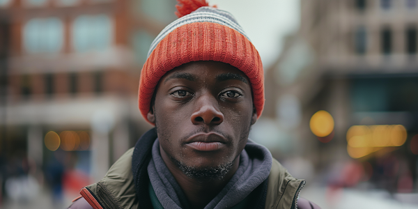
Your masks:
{"label": "bare skin of the man's face and neck below the beanie", "polygon": [[[251,86],[237,68],[196,61],[167,72],[147,115],[155,123],[160,153],[192,208],[204,208],[237,171],[256,123]],[[222,179],[187,176],[178,166],[210,169],[232,164]]]}

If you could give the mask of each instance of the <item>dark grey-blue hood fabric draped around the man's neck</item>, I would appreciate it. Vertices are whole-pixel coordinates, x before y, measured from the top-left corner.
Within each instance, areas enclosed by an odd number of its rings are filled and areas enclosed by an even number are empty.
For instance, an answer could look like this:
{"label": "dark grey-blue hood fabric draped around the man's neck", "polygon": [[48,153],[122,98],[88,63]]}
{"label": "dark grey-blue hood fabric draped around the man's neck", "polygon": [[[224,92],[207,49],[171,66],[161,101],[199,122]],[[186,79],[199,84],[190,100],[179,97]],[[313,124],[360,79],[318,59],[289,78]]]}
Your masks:
{"label": "dark grey-blue hood fabric draped around the man's neck", "polygon": [[[250,149],[251,153],[256,153],[255,157],[249,155],[246,149]],[[153,144],[152,155],[148,164],[148,176],[162,206],[166,209],[190,208],[183,190],[162,160],[158,139]],[[205,209],[231,208],[240,203],[268,178],[271,167],[272,155],[270,151],[264,146],[248,140],[240,155],[238,170]]]}

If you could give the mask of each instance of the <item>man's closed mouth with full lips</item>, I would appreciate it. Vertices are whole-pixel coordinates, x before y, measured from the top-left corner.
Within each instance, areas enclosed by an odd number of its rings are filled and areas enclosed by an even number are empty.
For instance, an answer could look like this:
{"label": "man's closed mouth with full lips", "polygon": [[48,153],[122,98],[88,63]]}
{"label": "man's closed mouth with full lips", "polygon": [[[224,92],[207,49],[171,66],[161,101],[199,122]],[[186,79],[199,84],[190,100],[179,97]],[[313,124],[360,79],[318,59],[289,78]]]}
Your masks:
{"label": "man's closed mouth with full lips", "polygon": [[217,132],[201,132],[193,134],[185,141],[185,144],[194,150],[208,152],[223,148],[226,141],[225,137]]}

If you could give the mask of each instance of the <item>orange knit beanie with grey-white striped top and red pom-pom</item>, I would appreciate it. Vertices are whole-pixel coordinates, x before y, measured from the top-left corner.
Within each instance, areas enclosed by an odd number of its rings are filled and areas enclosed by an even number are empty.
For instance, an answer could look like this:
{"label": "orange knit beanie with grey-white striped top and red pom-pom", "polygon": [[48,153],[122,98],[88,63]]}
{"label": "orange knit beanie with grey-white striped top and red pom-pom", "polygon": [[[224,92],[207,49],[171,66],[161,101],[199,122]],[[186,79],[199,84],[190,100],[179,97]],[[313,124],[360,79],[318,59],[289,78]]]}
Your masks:
{"label": "orange knit beanie with grey-white striped top and red pom-pom", "polygon": [[192,61],[219,61],[247,75],[260,117],[264,106],[263,64],[241,26],[231,13],[208,6],[206,0],[178,2],[178,20],[155,38],[141,71],[138,103],[142,116],[148,121],[155,87],[169,70]]}

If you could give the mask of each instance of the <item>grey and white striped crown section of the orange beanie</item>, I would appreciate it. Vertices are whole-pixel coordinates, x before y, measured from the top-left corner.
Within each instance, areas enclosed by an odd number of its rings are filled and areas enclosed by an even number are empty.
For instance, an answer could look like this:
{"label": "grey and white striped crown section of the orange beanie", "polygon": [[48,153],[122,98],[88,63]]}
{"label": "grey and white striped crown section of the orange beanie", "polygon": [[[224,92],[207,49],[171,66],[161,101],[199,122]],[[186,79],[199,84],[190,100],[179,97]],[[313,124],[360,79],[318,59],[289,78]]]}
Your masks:
{"label": "grey and white striped crown section of the orange beanie", "polygon": [[231,13],[228,13],[224,10],[218,10],[217,8],[203,6],[194,10],[189,15],[180,17],[178,18],[178,20],[175,20],[174,22],[171,22],[169,25],[167,25],[160,32],[160,34],[158,34],[157,38],[154,39],[153,43],[151,43],[147,59],[150,56],[151,52],[154,51],[155,47],[157,47],[158,43],[162,39],[164,39],[164,37],[166,37],[169,33],[171,33],[180,26],[183,26],[185,24],[191,24],[194,22],[213,22],[217,24],[222,24],[224,26],[228,26],[231,29],[234,29],[235,31],[238,31],[249,40],[247,34],[245,34],[244,30],[242,30],[241,26],[238,24],[238,22],[235,20]]}

